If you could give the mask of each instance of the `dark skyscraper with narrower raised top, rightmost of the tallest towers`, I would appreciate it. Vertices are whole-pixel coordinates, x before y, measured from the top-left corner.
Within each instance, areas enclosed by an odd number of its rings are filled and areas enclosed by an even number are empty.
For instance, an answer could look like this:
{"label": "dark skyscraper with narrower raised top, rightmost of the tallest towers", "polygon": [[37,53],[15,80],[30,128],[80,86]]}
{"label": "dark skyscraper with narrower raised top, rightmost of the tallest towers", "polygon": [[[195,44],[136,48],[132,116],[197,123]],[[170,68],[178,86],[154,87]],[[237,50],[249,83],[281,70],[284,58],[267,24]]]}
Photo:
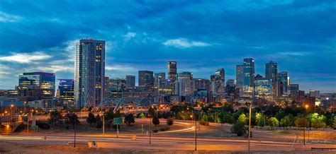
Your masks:
{"label": "dark skyscraper with narrower raised top, rightmost of the tallest towers", "polygon": [[277,83],[278,76],[278,64],[273,61],[269,61],[269,63],[265,64],[265,78],[269,80],[269,85],[271,85],[271,95],[272,97],[276,97],[278,95],[278,85]]}

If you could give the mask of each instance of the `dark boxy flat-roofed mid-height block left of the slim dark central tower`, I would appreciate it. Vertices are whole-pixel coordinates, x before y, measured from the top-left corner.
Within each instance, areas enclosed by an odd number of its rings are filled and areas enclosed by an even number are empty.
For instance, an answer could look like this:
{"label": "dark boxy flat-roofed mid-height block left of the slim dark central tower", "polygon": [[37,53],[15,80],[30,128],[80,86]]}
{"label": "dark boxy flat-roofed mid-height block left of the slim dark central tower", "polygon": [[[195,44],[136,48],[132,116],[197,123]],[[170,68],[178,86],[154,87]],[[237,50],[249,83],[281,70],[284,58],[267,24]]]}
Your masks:
{"label": "dark boxy flat-roofed mid-height block left of the slim dark central tower", "polygon": [[153,90],[154,78],[152,71],[139,71],[139,86],[144,90]]}

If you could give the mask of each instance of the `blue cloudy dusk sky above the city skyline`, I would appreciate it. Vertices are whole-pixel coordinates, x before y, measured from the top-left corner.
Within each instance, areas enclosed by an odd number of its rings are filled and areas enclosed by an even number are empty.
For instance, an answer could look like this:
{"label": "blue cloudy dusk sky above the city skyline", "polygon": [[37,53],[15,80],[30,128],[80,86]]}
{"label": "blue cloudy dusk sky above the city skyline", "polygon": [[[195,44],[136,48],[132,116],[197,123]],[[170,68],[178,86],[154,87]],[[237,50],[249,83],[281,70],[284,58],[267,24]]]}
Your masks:
{"label": "blue cloudy dusk sky above the city skyline", "polygon": [[106,40],[106,76],[139,70],[210,78],[218,68],[255,59],[289,71],[301,90],[336,92],[335,1],[61,1],[1,0],[0,89],[29,71],[74,78],[74,41]]}

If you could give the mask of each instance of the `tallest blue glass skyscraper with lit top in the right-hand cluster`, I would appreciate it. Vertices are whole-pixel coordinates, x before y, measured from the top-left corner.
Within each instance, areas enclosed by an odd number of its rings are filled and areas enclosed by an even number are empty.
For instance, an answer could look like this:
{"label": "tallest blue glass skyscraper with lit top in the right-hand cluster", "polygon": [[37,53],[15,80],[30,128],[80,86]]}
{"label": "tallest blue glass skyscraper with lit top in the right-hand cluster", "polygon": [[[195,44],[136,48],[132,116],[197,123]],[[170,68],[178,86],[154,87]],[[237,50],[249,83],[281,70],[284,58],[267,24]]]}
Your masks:
{"label": "tallest blue glass skyscraper with lit top in the right-hand cluster", "polygon": [[243,95],[253,97],[254,95],[254,59],[246,58],[243,64],[244,87]]}

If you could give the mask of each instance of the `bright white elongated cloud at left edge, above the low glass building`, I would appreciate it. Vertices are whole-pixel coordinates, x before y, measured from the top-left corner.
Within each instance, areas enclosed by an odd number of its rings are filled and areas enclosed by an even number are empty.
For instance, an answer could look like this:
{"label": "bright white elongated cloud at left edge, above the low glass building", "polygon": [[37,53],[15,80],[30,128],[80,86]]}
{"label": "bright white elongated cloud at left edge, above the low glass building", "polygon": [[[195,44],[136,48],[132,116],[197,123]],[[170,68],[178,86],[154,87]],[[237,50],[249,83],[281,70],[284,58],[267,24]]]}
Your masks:
{"label": "bright white elongated cloud at left edge, above the low glass building", "polygon": [[33,53],[14,53],[11,56],[0,57],[0,61],[12,61],[18,63],[30,63],[32,61],[38,61],[43,59],[49,59],[50,55],[43,52]]}

